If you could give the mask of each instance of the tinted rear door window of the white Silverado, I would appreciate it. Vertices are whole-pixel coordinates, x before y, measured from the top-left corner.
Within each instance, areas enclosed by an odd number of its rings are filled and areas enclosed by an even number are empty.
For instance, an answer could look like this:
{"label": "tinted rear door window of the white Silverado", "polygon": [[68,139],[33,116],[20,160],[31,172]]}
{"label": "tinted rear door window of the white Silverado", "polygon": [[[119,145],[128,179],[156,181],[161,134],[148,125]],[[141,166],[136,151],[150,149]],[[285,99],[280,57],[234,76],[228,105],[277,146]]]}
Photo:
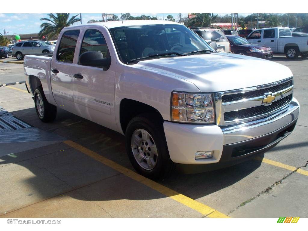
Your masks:
{"label": "tinted rear door window of the white Silverado", "polygon": [[56,56],[57,61],[73,63],[79,33],[80,30],[69,30],[62,35]]}

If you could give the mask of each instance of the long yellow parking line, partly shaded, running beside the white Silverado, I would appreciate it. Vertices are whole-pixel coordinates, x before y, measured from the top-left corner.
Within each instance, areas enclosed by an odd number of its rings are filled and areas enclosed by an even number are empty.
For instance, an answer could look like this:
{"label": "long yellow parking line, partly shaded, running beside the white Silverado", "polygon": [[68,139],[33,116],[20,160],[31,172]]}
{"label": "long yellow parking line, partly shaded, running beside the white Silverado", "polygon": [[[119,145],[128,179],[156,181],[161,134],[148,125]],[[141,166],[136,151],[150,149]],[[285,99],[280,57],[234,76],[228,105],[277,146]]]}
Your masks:
{"label": "long yellow parking line, partly shaded, running beside the white Silverado", "polygon": [[136,180],[154,190],[156,190],[157,192],[160,192],[162,194],[164,194],[165,196],[183,204],[186,205],[187,207],[194,209],[196,211],[198,211],[199,213],[201,213],[203,216],[206,217],[213,217],[213,218],[227,218],[228,216],[218,212],[217,210],[204,205],[198,201],[195,201],[189,197],[186,197],[180,193],[177,193],[176,191],[165,187],[164,185],[158,184],[153,180],[150,180],[144,176],[139,175],[138,173],[123,167],[120,164],[115,163],[112,160],[109,160],[103,156],[100,156],[99,154],[97,154],[96,152],[91,151],[88,148],[85,148],[77,143],[75,143],[74,141],[71,140],[66,140],[64,141],[65,144],[71,146],[72,148],[75,148],[77,150],[79,150],[80,152],[83,152],[84,154],[92,157],[93,159],[107,165],[110,168],[115,169],[118,172],[121,172],[122,174],[124,174],[125,176],[128,176],[129,178]]}

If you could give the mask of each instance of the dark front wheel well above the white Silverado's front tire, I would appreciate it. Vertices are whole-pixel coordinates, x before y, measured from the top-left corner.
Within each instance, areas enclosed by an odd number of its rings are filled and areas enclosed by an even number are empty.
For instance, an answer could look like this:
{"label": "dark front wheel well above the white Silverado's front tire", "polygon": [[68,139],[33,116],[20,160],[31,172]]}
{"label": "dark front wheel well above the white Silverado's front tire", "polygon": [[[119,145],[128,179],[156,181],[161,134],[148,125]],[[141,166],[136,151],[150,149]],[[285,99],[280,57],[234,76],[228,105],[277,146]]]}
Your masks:
{"label": "dark front wheel well above the white Silverado's front tire", "polygon": [[144,113],[153,113],[158,120],[163,121],[162,115],[156,108],[133,99],[122,99],[120,102],[120,125],[123,133],[125,134],[127,125],[132,118]]}

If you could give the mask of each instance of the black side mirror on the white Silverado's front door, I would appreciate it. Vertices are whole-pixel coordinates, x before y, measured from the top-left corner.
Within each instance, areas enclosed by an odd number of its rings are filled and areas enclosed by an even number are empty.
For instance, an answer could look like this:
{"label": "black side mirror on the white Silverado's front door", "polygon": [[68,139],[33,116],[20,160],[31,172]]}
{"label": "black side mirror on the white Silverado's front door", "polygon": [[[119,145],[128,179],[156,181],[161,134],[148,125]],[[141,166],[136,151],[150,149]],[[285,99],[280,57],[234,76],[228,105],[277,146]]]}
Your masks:
{"label": "black side mirror on the white Silverado's front door", "polygon": [[92,67],[109,67],[111,59],[104,58],[99,51],[86,51],[79,56],[79,64]]}

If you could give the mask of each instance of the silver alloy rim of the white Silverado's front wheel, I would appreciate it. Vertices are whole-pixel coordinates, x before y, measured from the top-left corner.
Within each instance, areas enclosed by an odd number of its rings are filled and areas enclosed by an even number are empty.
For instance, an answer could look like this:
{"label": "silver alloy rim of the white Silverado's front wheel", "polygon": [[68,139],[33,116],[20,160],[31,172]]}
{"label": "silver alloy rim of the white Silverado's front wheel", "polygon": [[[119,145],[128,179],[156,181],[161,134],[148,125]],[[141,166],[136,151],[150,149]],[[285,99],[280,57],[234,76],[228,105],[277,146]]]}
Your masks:
{"label": "silver alloy rim of the white Silverado's front wheel", "polygon": [[152,170],[157,164],[157,148],[152,136],[144,129],[132,134],[132,152],[141,168]]}

